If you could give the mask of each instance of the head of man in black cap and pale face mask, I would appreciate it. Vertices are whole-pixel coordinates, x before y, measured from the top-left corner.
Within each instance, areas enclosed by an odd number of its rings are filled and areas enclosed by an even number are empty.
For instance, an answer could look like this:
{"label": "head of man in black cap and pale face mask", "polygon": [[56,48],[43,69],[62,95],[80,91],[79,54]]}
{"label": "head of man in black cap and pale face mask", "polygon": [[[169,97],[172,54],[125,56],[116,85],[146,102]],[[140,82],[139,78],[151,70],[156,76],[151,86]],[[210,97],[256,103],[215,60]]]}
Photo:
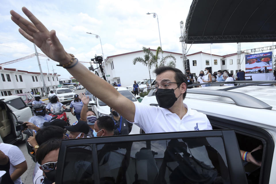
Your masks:
{"label": "head of man in black cap and pale face mask", "polygon": [[70,132],[69,139],[79,139],[88,137],[90,127],[85,121],[76,121],[71,126],[64,126]]}

